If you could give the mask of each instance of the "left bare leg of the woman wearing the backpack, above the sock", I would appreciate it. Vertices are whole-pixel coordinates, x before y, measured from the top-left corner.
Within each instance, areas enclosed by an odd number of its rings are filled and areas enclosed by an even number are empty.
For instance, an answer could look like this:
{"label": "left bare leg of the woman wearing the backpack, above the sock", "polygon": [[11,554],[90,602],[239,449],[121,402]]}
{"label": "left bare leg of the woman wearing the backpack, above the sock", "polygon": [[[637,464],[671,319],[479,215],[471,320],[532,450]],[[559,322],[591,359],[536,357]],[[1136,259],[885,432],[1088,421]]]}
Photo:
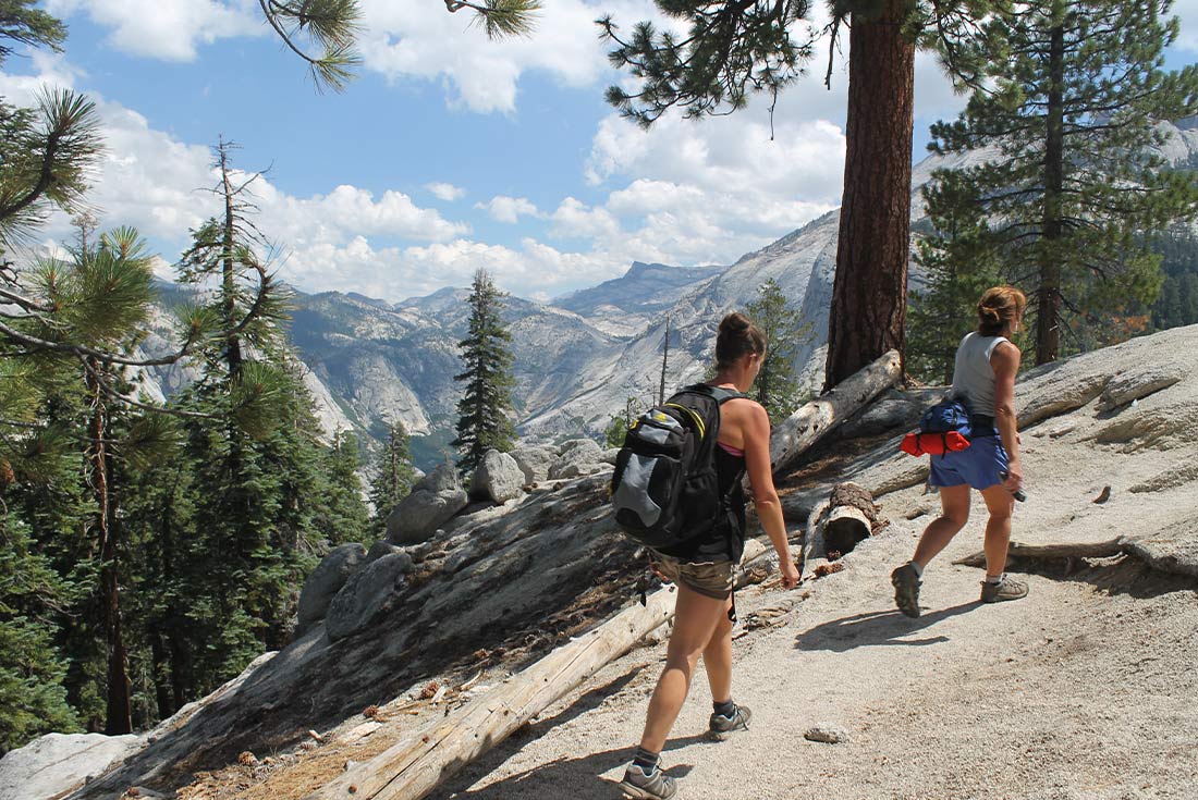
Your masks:
{"label": "left bare leg of the woman wearing the backpack, above the sock", "polygon": [[[666,666],[658,679],[657,689],[653,690],[653,697],[649,698],[649,713],[645,720],[641,747],[653,752],[661,752],[665,747],[670,728],[678,719],[682,704],[690,691],[695,663],[712,641],[720,614],[726,613],[726,607],[727,600],[707,598],[678,584],[674,629],[666,649]],[[731,661],[731,657],[728,660]]]}

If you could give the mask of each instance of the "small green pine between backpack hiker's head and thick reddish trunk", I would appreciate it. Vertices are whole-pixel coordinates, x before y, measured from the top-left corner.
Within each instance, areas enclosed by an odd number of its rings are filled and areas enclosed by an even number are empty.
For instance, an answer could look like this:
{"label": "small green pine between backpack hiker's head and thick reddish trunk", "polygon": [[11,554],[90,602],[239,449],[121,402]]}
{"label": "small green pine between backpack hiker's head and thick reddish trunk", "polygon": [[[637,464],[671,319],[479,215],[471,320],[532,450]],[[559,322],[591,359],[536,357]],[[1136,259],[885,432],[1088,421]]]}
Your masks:
{"label": "small green pine between backpack hiker's head and thick reddish trunk", "polygon": [[757,297],[745,309],[754,325],[766,334],[766,359],[754,382],[757,402],[778,424],[799,406],[799,376],[794,371],[799,347],[811,338],[811,323],[803,311],[787,302],[782,287],[773,278],[757,290]]}

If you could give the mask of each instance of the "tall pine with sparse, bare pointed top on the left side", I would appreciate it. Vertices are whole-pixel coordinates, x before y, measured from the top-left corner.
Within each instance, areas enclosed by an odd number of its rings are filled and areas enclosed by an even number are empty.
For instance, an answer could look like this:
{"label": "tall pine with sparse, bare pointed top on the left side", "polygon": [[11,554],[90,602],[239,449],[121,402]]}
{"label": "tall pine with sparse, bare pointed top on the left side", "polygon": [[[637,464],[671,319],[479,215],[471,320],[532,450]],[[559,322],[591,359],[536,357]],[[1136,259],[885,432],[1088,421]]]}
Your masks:
{"label": "tall pine with sparse, bare pointed top on the left side", "polygon": [[214,149],[222,213],[193,232],[179,265],[184,283],[218,281],[202,310],[223,328],[198,351],[202,376],[179,400],[196,498],[176,576],[193,599],[181,648],[188,698],[286,642],[303,575],[331,543],[361,538],[365,516],[349,478],[329,480],[332,456],[286,345],[288,298],[252,219],[259,174],[235,171],[232,150]]}

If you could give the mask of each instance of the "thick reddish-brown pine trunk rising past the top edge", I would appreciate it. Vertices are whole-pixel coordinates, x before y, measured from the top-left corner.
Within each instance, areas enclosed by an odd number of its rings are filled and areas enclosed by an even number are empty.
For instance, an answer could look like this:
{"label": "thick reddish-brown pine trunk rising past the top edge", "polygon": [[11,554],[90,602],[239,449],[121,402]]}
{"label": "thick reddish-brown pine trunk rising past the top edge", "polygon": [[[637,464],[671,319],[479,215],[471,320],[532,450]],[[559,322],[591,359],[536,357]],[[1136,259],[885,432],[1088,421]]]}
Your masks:
{"label": "thick reddish-brown pine trunk rising past the top edge", "polygon": [[909,8],[910,0],[884,0],[876,19],[852,18],[825,388],[903,350],[915,83],[915,46],[902,31]]}

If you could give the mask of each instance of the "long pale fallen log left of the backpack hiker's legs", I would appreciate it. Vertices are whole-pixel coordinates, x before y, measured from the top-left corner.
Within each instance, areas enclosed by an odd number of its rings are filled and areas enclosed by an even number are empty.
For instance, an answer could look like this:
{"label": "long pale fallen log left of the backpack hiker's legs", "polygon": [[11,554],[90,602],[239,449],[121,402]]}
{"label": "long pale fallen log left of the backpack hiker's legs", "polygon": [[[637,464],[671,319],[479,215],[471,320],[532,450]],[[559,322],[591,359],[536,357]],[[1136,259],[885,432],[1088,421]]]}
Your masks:
{"label": "long pale fallen log left of the backpack hiker's legs", "polygon": [[486,695],[355,765],[304,800],[419,800],[673,617],[673,587],[649,595]]}

